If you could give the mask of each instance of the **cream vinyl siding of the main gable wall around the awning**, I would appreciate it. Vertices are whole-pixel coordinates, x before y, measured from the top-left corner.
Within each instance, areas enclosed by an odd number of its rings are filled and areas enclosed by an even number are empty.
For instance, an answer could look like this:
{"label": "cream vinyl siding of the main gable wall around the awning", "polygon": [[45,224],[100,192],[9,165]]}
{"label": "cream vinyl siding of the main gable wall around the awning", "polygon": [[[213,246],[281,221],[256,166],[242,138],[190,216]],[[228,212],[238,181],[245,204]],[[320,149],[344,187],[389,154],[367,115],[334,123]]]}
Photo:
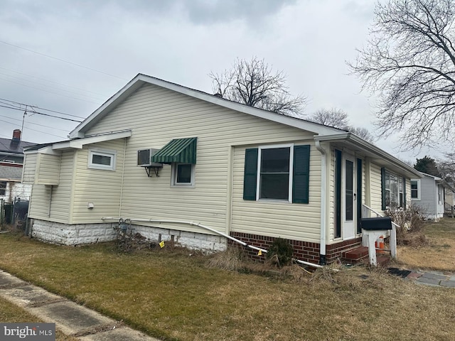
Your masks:
{"label": "cream vinyl siding of the main gable wall around the awning", "polygon": [[[122,217],[193,221],[220,231],[228,231],[230,216],[226,214],[231,203],[230,172],[234,170],[233,230],[254,230],[260,234],[268,234],[272,233],[272,227],[279,228],[282,225],[283,217],[293,217],[296,226],[284,226],[283,237],[291,236],[294,229],[298,229],[299,236],[314,236],[314,227],[319,222],[319,215],[314,212],[314,207],[319,207],[320,195],[319,175],[315,174],[318,173],[316,168],[320,163],[316,149],[311,150],[311,206],[308,206],[311,207],[311,212],[301,204],[263,205],[261,202],[243,202],[240,199],[245,148],[305,141],[311,139],[313,134],[218,107],[154,85],[141,87],[87,131],[87,134],[122,129],[133,131],[132,136],[127,139]],[[144,168],[137,166],[139,149],[162,148],[171,139],[185,137],[198,138],[196,181],[193,188],[172,187],[169,165],[164,165],[159,177],[152,171],[150,178]],[[230,163],[231,158],[233,165]],[[255,219],[242,221],[241,217],[245,217],[245,212],[251,212],[252,209],[255,210]],[[272,218],[269,212],[274,212],[275,217]],[[302,212],[308,212],[308,215]],[[268,217],[267,224],[257,224],[257,217],[261,215]],[[81,217],[77,216],[75,222],[80,222]],[[301,217],[305,217],[304,221],[308,222],[306,227],[302,226],[299,220]],[[186,225],[153,225],[206,232]]]}

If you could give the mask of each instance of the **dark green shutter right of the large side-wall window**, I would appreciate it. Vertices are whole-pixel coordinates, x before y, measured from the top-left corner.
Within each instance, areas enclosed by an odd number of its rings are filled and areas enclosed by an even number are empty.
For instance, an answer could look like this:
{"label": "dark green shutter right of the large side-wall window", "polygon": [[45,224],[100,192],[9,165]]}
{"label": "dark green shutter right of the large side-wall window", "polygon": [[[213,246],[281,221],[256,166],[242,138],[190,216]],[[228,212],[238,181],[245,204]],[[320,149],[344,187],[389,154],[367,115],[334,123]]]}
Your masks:
{"label": "dark green shutter right of the large side-wall window", "polygon": [[310,176],[310,146],[294,146],[292,202],[308,204]]}

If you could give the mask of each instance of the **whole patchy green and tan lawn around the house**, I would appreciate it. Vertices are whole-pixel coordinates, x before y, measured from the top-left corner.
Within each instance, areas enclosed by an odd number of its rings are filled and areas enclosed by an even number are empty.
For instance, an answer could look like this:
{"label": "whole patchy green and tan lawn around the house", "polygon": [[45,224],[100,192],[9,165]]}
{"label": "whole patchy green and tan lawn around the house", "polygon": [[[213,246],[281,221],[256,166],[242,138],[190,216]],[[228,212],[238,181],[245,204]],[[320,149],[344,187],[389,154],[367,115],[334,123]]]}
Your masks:
{"label": "whole patchy green and tan lawn around the house", "polygon": [[[412,260],[414,269],[438,269],[446,262],[432,261],[454,257],[455,220],[427,224],[425,233],[432,244],[400,247],[400,266]],[[312,275],[291,267],[294,277],[272,278],[210,268],[210,257],[185,250],[122,254],[109,243],[61,247],[13,234],[0,234],[0,253],[0,269],[162,340],[454,340],[455,335],[454,288],[417,286],[363,266]],[[0,301],[1,308],[14,308],[8,304]],[[18,316],[6,314],[9,320]]]}

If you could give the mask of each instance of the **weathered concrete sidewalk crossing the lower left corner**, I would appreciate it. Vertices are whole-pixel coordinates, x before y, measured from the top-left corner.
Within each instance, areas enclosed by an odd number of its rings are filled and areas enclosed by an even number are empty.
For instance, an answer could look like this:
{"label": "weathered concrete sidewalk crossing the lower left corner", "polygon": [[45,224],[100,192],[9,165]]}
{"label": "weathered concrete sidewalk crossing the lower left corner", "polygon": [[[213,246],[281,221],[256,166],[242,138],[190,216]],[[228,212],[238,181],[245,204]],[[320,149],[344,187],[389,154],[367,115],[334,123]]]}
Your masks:
{"label": "weathered concrete sidewalk crossing the lower left corner", "polygon": [[79,340],[159,341],[1,270],[0,296]]}

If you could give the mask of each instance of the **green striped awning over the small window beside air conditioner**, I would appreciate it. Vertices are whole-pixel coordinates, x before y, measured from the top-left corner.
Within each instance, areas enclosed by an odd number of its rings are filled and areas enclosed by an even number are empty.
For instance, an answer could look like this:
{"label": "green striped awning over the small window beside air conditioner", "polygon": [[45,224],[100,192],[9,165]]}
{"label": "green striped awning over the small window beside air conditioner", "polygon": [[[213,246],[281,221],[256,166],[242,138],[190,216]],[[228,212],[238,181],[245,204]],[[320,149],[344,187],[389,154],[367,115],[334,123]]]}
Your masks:
{"label": "green striped awning over the small window beside air conditioner", "polygon": [[151,162],[196,164],[197,137],[173,139],[151,157]]}

